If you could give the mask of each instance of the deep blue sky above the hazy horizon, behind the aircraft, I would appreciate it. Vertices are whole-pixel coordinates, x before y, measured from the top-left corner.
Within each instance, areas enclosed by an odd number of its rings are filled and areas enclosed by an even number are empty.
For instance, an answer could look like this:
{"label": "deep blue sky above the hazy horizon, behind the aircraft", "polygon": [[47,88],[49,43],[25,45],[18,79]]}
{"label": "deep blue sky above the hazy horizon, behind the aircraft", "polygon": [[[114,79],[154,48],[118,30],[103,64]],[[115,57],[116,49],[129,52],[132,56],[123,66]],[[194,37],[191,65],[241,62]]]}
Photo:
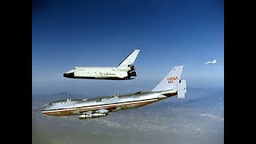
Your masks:
{"label": "deep blue sky above the hazy horizon, behind the aircraft", "polygon": [[[62,76],[74,66],[118,66],[135,49],[133,80]],[[222,0],[33,1],[32,94],[153,90],[179,65],[188,87],[224,87]]]}

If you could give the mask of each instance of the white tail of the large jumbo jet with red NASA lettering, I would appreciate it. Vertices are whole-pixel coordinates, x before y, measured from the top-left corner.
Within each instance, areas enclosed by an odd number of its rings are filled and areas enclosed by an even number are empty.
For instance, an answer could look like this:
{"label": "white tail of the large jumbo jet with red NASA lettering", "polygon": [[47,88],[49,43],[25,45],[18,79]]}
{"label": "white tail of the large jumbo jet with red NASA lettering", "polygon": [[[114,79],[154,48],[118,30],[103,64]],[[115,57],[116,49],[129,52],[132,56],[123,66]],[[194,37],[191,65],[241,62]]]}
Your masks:
{"label": "white tail of the large jumbo jet with red NASA lettering", "polygon": [[175,66],[152,91],[174,90],[178,98],[185,98],[186,80],[181,80],[183,66]]}

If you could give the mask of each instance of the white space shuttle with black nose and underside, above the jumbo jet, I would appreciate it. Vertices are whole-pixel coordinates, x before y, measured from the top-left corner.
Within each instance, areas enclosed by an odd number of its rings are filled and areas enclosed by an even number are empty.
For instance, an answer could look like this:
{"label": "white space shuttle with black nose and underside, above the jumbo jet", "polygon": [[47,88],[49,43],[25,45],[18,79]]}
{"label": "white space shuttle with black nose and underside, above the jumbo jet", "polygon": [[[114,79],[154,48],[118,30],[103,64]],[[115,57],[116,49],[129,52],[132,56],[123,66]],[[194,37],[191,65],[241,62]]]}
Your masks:
{"label": "white space shuttle with black nose and underside, above the jumbo jet", "polygon": [[106,79],[106,80],[130,80],[137,76],[135,59],[140,50],[132,51],[118,66],[116,67],[86,67],[75,66],[73,70],[69,70],[63,74],[66,78],[82,78],[82,79]]}

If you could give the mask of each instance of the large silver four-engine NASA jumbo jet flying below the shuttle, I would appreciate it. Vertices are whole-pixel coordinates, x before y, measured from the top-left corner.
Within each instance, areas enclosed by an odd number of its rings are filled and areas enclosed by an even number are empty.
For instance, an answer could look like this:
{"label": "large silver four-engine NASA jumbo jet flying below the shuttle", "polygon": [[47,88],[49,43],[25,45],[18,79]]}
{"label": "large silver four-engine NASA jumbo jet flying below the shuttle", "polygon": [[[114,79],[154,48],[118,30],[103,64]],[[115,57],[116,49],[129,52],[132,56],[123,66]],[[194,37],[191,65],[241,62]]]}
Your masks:
{"label": "large silver four-engine NASA jumbo jet flying below the shuttle", "polygon": [[42,114],[51,116],[79,115],[79,119],[105,117],[111,112],[146,106],[165,98],[178,95],[185,98],[186,80],[181,80],[183,66],[175,66],[162,81],[148,92],[114,94],[106,98],[70,99],[50,102]]}

